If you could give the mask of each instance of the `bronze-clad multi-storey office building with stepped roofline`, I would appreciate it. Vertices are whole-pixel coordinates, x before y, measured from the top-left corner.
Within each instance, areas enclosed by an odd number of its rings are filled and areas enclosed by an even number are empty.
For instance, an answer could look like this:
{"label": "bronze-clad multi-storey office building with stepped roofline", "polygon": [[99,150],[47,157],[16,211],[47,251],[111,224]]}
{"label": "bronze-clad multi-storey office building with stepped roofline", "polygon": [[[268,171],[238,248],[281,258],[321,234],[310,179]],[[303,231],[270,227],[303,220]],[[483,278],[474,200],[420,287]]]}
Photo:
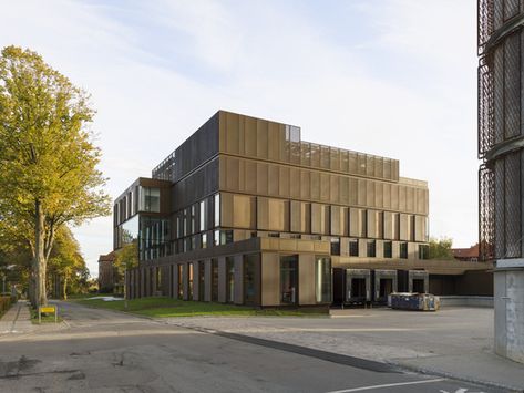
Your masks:
{"label": "bronze-clad multi-storey office building with stepped roofline", "polygon": [[400,177],[397,159],[219,111],[116,199],[114,248],[138,246],[131,298],[383,301],[400,286],[445,292],[448,278],[485,269],[427,260],[428,206],[427,183]]}

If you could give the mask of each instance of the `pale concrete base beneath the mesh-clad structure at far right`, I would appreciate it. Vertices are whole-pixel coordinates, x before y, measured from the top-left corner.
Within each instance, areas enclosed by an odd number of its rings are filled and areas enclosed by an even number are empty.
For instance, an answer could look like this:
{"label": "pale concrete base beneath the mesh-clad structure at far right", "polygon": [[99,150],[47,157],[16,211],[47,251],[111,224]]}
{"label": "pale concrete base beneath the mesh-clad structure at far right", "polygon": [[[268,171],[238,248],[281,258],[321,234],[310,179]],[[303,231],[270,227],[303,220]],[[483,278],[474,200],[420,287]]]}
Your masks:
{"label": "pale concrete base beneath the mesh-clad structure at far right", "polygon": [[524,259],[496,262],[495,353],[524,363]]}

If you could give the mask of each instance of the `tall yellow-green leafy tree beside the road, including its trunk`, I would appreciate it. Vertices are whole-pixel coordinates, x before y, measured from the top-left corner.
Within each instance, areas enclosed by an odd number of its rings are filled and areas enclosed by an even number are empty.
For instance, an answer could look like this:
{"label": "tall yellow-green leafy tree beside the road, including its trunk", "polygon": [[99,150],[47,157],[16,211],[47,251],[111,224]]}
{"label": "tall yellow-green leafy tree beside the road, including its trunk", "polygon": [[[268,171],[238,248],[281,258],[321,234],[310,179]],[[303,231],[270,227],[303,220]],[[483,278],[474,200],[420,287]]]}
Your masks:
{"label": "tall yellow-green leafy tree beside the road, including its trunk", "polygon": [[29,228],[31,302],[47,303],[45,270],[56,231],[110,214],[89,95],[35,52],[0,56],[0,216]]}

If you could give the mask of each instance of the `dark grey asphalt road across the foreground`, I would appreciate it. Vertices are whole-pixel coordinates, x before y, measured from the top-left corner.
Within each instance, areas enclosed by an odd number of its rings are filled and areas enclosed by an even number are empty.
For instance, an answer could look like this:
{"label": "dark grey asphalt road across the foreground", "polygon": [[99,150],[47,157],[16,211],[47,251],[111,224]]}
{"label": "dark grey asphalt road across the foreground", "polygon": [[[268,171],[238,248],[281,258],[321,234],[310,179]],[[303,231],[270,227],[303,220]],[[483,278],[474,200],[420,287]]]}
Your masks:
{"label": "dark grey asphalt road across the foreground", "polygon": [[64,329],[0,337],[0,392],[500,392],[74,303],[60,308]]}

